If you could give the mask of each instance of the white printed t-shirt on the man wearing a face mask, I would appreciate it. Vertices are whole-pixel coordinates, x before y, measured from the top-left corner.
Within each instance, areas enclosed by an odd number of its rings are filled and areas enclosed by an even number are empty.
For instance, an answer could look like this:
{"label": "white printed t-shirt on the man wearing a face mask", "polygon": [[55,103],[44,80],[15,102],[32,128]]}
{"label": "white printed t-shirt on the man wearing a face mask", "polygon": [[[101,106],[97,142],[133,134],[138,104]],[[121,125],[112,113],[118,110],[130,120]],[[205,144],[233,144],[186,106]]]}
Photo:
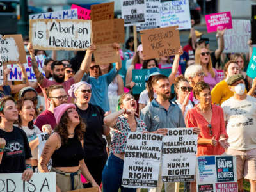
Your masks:
{"label": "white printed t-shirt on the man wearing a face mask", "polygon": [[247,95],[244,100],[234,97],[221,104],[227,121],[228,143],[235,150],[256,148],[256,99]]}

